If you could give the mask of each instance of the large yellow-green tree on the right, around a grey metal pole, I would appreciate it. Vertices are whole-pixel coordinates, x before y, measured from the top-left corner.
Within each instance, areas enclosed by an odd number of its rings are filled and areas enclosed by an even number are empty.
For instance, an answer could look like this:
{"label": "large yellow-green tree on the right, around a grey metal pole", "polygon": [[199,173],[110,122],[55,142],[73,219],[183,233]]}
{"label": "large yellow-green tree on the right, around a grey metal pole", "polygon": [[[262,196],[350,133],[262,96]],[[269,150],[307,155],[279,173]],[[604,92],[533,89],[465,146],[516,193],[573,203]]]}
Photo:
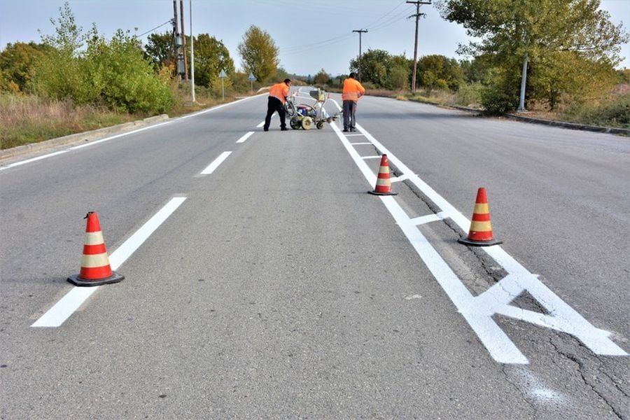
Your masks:
{"label": "large yellow-green tree on the right, around a grey metal pole", "polygon": [[[489,90],[500,96],[499,109],[511,111],[517,105],[524,60],[530,71],[528,84],[540,85],[536,78],[555,74],[556,82],[559,78],[565,82],[562,91],[575,97],[583,91],[570,81],[580,78],[566,78],[562,69],[575,64],[587,69],[599,63],[600,69],[612,71],[619,63],[619,45],[629,36],[622,24],[613,25],[610,15],[598,10],[599,4],[600,0],[441,0],[438,8],[444,19],[460,23],[468,35],[481,39],[458,52],[487,60],[494,69],[487,80]],[[549,89],[528,91],[530,99],[550,103],[558,94]]]}

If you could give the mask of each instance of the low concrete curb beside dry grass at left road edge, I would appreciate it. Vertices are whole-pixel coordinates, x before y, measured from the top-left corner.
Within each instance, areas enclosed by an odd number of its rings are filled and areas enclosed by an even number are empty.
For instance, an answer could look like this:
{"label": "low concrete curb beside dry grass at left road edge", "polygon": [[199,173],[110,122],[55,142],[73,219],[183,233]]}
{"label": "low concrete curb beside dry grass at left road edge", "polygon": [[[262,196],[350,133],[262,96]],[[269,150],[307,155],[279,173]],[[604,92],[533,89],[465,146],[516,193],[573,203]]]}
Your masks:
{"label": "low concrete curb beside dry grass at left road edge", "polygon": [[4,149],[0,151],[0,160],[14,158],[15,156],[26,155],[33,152],[45,151],[49,148],[85,143],[92,140],[99,140],[104,137],[113,136],[115,134],[137,130],[141,127],[146,127],[148,125],[159,123],[160,121],[168,119],[169,116],[167,116],[167,114],[162,114],[160,116],[144,118],[144,120],[132,121],[131,123],[113,125],[111,127],[99,128],[98,130],[92,130],[89,132],[69,134],[68,136],[59,137],[57,139],[50,139],[40,141],[38,143],[25,144],[23,146]]}

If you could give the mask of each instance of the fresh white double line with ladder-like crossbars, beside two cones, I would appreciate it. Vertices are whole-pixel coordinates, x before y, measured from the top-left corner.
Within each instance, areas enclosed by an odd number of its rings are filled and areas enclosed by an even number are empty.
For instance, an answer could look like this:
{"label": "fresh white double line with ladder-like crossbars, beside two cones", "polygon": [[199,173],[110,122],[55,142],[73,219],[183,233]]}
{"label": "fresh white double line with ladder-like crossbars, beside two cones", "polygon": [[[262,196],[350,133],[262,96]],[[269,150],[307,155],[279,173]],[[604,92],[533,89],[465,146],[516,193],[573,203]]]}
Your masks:
{"label": "fresh white double line with ladder-like crossbars, beside two cones", "polygon": [[[398,180],[409,179],[429,200],[442,210],[435,215],[411,219],[398,205],[394,197],[380,197],[431,274],[435,276],[435,279],[440,283],[440,286],[442,286],[451,301],[454,302],[458,311],[465,320],[468,321],[468,324],[472,330],[475,331],[477,337],[479,337],[494,360],[499,363],[528,363],[527,358],[521,353],[517,346],[514,345],[510,337],[507,337],[505,332],[503,332],[493,320],[492,317],[497,314],[566,332],[580,339],[584,345],[597,354],[606,356],[627,356],[627,353],[621,349],[621,347],[612,342],[610,332],[595,328],[591,325],[591,323],[578,314],[577,311],[571,308],[538,280],[534,274],[528,272],[525,267],[503,251],[500,246],[488,246],[483,249],[505,269],[508,273],[507,276],[491,286],[491,288],[484,293],[473,296],[451,270],[447,262],[444,261],[441,255],[417,228],[417,225],[422,223],[451,218],[463,232],[466,232],[470,227],[470,221],[398,160],[395,155],[391,154],[379,141],[374,139],[370,133],[363,130],[363,127],[357,125],[357,128],[360,132],[365,134],[365,137],[367,137],[381,153],[386,154],[390,162],[402,172]],[[349,141],[336,126],[333,126],[333,130],[337,132],[337,137],[342,141],[342,144],[344,144],[346,150],[356,162],[356,165],[361,172],[363,172],[367,181],[371,184],[374,183],[376,176],[372,170],[367,167],[364,161],[365,158],[360,158],[358,153],[356,153]],[[547,309],[549,315],[527,311],[526,309],[520,309],[510,304],[512,300],[524,291],[527,291],[538,300],[538,302]]]}

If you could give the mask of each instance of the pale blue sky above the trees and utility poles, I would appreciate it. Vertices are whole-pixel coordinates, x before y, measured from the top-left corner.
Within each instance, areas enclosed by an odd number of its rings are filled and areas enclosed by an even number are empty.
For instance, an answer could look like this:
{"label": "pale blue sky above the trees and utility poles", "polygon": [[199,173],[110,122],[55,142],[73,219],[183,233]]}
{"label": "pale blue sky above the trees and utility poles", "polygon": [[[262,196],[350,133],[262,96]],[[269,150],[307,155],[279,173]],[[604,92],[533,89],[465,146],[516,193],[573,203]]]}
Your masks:
{"label": "pale blue sky above the trees and utility poles", "polygon": [[[489,0],[491,1],[491,0]],[[151,31],[172,31],[173,0],[67,0],[77,25],[84,31],[96,24],[111,38],[117,29],[146,37]],[[433,1],[435,3],[435,0]],[[7,43],[41,41],[55,34],[50,19],[59,18],[65,0],[1,0],[0,50]],[[323,69],[332,76],[349,72],[349,62],[369,49],[414,57],[416,6],[405,0],[184,0],[184,25],[190,35],[209,34],[223,41],[237,69],[242,68],[238,45],[251,25],[267,31],[280,51],[280,65],[288,73],[312,75]],[[602,0],[615,25],[630,31],[630,0]],[[178,20],[180,0],[177,0]],[[419,22],[418,57],[430,54],[464,59],[458,44],[469,41],[465,29],[440,18],[434,5],[423,5]],[[156,29],[157,28],[157,29]],[[353,32],[367,30],[367,32]],[[40,34],[41,31],[41,34]],[[359,45],[360,41],[360,45]],[[622,45],[630,69],[630,43]]]}

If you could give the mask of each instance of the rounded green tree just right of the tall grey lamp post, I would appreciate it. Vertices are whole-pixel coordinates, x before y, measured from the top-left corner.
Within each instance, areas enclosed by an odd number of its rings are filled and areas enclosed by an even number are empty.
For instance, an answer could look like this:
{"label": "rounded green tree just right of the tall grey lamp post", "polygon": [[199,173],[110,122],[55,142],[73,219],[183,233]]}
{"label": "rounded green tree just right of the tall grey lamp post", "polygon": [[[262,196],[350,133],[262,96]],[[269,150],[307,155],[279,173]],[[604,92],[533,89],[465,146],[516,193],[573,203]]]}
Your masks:
{"label": "rounded green tree just right of the tall grey lamp post", "polygon": [[[200,34],[195,38],[195,85],[211,86],[216,80],[221,82],[218,78],[221,70],[225,70],[228,76],[235,73],[230,51],[214,36]],[[218,85],[221,87],[221,83]]]}

